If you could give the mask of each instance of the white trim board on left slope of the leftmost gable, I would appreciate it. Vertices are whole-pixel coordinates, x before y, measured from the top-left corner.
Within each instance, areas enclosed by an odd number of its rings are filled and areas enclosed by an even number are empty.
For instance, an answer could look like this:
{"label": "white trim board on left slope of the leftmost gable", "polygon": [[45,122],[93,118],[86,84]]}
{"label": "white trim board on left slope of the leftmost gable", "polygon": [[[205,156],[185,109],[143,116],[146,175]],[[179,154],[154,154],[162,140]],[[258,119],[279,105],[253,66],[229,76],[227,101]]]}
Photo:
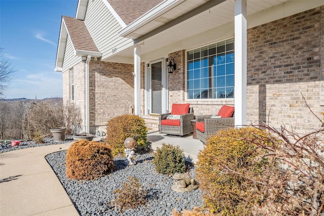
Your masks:
{"label": "white trim board on left slope of the leftmost gable", "polygon": [[59,44],[57,46],[56,62],[55,62],[55,69],[54,69],[55,71],[62,71],[67,35],[68,32],[66,30],[64,19],[62,17]]}

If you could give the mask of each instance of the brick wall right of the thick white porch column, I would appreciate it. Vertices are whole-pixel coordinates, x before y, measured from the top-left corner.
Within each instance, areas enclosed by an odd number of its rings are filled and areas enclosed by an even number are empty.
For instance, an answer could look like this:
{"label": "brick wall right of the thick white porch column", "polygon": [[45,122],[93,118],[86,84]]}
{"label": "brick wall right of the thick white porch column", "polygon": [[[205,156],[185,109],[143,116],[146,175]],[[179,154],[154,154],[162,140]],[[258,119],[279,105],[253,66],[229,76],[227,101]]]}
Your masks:
{"label": "brick wall right of the thick white porch column", "polygon": [[[248,122],[319,129],[324,7],[248,29]],[[323,23],[323,24],[322,24]],[[321,62],[322,61],[322,62]]]}

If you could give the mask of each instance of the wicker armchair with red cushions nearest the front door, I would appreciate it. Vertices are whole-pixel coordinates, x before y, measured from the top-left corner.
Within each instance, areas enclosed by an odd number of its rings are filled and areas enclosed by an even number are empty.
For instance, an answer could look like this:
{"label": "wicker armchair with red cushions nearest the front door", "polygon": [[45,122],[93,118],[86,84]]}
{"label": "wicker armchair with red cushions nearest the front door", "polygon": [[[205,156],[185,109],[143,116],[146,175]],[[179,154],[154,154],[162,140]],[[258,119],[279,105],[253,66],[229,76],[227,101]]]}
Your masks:
{"label": "wicker armchair with red cushions nearest the front door", "polygon": [[[159,132],[184,136],[188,133],[192,133],[191,120],[193,120],[193,113],[189,113],[189,103],[185,104],[172,104],[171,113],[160,114],[159,115]],[[179,107],[186,111],[180,111]],[[178,111],[178,112],[177,112]],[[185,112],[185,114],[183,114]],[[180,119],[167,119],[169,115],[179,115]]]}

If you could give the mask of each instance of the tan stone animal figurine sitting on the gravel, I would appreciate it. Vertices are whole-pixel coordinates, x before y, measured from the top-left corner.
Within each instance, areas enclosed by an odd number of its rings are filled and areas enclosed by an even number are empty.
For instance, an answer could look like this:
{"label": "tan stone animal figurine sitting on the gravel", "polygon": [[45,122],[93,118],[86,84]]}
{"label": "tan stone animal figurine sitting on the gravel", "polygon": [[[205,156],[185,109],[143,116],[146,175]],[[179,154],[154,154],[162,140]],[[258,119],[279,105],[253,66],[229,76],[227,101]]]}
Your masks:
{"label": "tan stone animal figurine sitting on the gravel", "polygon": [[196,182],[189,175],[183,173],[175,173],[172,178],[175,184],[172,186],[172,190],[176,192],[189,192],[198,188]]}

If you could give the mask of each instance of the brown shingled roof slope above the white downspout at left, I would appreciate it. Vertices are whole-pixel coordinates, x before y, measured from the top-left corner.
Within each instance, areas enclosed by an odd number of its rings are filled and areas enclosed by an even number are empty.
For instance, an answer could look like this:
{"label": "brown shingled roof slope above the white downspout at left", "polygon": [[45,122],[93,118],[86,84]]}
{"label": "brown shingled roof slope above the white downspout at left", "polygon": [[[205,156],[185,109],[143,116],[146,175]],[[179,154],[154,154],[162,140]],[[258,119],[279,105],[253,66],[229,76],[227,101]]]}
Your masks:
{"label": "brown shingled roof slope above the white downspout at left", "polygon": [[63,20],[75,50],[99,52],[84,21],[67,16]]}

